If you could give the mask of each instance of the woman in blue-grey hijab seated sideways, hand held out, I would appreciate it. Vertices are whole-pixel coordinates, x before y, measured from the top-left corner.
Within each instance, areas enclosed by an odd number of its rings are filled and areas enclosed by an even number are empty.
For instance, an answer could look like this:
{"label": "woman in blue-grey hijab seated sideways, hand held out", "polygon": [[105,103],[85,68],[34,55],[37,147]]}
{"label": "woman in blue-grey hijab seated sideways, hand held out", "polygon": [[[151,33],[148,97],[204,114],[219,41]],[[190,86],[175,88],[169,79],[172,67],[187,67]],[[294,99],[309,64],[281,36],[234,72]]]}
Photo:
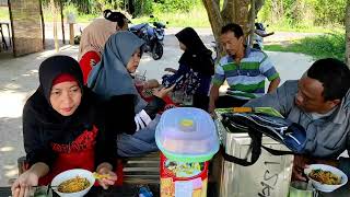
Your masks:
{"label": "woman in blue-grey hijab seated sideways, hand held out", "polygon": [[[155,113],[164,107],[162,100],[171,90],[154,90],[154,99],[150,104],[141,99],[136,90],[131,73],[136,71],[141,58],[142,39],[130,32],[118,32],[109,37],[105,45],[102,60],[96,65],[88,80],[89,86],[103,100],[109,101],[112,105],[117,95],[133,95],[135,107],[118,111],[118,106],[109,107],[109,121],[115,123],[120,116],[130,116],[136,113],[135,124],[125,127],[124,135],[117,138],[117,151],[121,157],[138,157],[147,152],[158,150],[154,140],[155,126],[159,117]],[[129,118],[128,118],[129,119]],[[121,130],[122,130],[121,129]]]}

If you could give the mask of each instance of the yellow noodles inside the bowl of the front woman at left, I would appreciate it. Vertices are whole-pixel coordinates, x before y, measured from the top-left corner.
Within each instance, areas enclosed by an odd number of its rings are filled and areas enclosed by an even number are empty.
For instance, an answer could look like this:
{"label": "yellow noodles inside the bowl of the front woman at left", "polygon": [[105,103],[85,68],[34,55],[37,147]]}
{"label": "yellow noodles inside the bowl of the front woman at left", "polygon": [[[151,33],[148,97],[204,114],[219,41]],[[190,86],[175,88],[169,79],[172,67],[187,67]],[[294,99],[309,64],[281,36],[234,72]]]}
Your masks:
{"label": "yellow noodles inside the bowl of the front woman at left", "polygon": [[58,192],[60,193],[78,193],[84,190],[90,186],[90,182],[84,177],[74,177],[62,182],[58,186]]}

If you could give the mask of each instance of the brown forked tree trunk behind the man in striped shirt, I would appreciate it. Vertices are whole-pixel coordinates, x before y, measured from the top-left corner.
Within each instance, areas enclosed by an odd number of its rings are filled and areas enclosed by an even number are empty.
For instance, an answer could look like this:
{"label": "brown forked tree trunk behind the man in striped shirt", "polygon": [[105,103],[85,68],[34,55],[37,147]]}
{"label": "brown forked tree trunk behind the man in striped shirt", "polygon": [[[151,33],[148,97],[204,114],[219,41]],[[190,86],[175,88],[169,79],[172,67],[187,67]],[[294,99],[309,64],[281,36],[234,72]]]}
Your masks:
{"label": "brown forked tree trunk behind the man in striped shirt", "polygon": [[[240,24],[245,36],[248,36],[254,30],[256,13],[264,2],[265,0],[224,0],[220,8],[220,0],[202,0],[217,43],[219,44],[221,27],[232,22]],[[222,50],[220,46],[219,49]]]}

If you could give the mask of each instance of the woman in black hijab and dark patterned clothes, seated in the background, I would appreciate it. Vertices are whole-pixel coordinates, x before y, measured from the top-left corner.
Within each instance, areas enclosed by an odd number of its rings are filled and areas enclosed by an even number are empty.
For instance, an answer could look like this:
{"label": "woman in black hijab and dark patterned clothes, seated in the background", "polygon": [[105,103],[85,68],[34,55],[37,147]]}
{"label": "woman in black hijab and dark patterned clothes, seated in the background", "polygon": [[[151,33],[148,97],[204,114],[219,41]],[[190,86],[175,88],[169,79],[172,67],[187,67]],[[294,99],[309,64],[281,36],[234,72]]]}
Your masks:
{"label": "woman in black hijab and dark patterned clothes, seated in the background", "polygon": [[214,74],[214,62],[211,58],[211,50],[205,46],[196,31],[191,27],[182,30],[175,36],[184,54],[178,60],[178,70],[172,68],[165,69],[165,71],[174,72],[174,74],[164,76],[163,84],[172,84],[179,77],[183,77],[174,91],[182,90],[187,95],[194,95],[192,105],[207,111],[211,76]]}

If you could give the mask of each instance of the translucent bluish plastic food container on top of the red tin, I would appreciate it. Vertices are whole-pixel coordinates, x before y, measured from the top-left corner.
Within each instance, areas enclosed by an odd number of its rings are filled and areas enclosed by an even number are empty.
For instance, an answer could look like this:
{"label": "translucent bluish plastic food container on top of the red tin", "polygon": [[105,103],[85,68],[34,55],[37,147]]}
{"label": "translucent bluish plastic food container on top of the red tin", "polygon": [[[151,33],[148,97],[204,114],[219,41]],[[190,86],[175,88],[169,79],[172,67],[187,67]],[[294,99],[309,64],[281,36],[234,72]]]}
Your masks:
{"label": "translucent bluish plastic food container on top of the red tin", "polygon": [[161,117],[155,141],[173,161],[205,162],[219,150],[215,125],[208,113],[194,107],[177,107]]}

